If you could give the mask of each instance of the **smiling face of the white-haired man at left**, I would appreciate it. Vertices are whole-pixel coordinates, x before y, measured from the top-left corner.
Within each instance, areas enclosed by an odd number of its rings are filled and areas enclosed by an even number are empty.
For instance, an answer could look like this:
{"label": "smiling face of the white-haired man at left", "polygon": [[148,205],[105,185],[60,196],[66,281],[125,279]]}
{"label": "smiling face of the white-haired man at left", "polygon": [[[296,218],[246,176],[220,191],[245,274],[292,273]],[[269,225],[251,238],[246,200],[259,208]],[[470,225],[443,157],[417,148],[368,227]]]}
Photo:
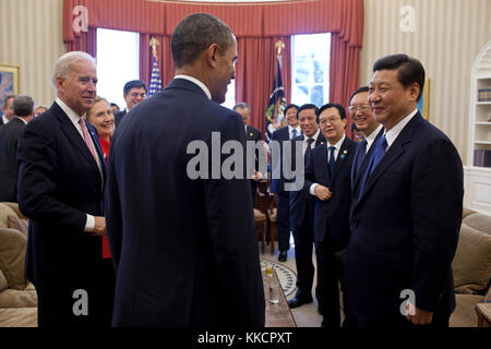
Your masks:
{"label": "smiling face of the white-haired man at left", "polygon": [[87,60],[70,64],[68,76],[57,76],[58,96],[80,116],[94,105],[96,97],[96,67]]}

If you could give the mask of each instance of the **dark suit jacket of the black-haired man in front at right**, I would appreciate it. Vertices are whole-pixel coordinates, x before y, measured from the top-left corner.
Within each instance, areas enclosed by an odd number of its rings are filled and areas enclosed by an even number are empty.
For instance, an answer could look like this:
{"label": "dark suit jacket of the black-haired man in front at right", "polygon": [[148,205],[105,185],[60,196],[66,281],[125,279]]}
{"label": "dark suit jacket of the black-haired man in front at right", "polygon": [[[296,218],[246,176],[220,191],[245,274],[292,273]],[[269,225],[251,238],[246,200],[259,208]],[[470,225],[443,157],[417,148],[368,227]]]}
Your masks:
{"label": "dark suit jacket of the black-haired man in front at right", "polygon": [[463,193],[457,151],[418,112],[352,202],[347,290],[361,325],[400,322],[406,289],[417,308],[450,316]]}

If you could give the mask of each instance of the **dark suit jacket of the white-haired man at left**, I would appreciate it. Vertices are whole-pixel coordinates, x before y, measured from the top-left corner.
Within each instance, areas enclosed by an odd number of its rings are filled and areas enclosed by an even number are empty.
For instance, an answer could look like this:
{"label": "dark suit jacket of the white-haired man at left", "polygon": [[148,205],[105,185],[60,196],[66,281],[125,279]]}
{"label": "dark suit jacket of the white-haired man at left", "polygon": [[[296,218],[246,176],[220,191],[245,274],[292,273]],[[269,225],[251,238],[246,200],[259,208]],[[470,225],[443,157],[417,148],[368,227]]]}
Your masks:
{"label": "dark suit jacket of the white-haired man at left", "polygon": [[[94,127],[86,125],[103,173],[56,103],[33,119],[19,140],[17,198],[21,212],[29,218],[26,277],[41,297],[52,290],[72,293],[85,289],[91,302],[92,287],[100,273],[103,238],[84,232],[84,228],[86,214],[104,215],[105,160]],[[71,308],[63,311],[72,313]]]}

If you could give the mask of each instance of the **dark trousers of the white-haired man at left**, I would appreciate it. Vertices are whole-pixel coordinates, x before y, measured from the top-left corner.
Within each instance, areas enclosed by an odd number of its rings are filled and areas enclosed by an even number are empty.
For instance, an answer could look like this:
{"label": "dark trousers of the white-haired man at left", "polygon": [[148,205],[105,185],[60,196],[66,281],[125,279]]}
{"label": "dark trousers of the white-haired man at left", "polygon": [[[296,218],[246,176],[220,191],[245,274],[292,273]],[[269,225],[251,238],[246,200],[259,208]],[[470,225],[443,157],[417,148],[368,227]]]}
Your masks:
{"label": "dark trousers of the white-haired man at left", "polygon": [[109,327],[115,300],[112,260],[103,260],[93,285],[36,289],[38,327]]}

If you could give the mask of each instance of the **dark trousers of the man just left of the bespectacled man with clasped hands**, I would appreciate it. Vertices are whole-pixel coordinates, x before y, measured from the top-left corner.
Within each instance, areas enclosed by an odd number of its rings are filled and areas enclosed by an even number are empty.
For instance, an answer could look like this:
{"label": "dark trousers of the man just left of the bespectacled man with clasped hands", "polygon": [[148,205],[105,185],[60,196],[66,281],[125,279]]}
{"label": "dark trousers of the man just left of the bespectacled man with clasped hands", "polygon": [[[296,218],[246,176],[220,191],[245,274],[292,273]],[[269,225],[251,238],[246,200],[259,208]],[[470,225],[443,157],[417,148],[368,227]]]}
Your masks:
{"label": "dark trousers of the man just left of the bespectacled man with clasped hands", "polygon": [[297,298],[311,299],[314,277],[312,248],[314,241],[313,219],[306,215],[300,227],[294,227],[295,263],[297,264]]}

